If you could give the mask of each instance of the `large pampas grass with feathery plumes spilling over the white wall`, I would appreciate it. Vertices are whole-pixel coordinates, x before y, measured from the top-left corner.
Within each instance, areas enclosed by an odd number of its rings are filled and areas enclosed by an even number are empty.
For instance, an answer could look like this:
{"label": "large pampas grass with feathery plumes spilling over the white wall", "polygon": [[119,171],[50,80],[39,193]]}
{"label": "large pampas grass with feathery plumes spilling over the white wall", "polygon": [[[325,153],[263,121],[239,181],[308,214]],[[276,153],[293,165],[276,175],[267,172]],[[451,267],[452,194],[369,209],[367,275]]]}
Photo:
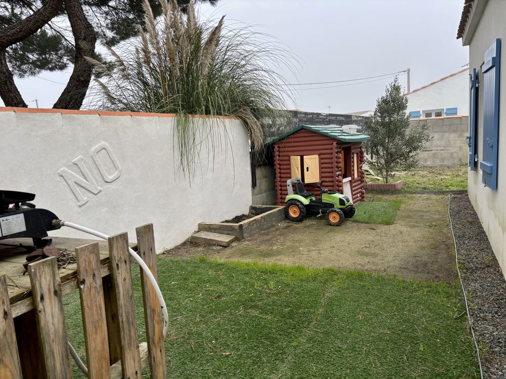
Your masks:
{"label": "large pampas grass with feathery plumes spilling over the white wall", "polygon": [[[190,176],[199,162],[230,143],[222,119],[203,123],[192,115],[240,119],[252,151],[260,151],[262,120],[287,119],[281,110],[289,91],[279,85],[286,81],[276,71],[291,68],[293,55],[267,34],[226,27],[225,16],[217,23],[201,22],[191,2],[186,15],[175,0],[161,0],[161,6],[162,15],[155,18],[144,0],[145,29],[139,37],[121,50],[107,47],[113,69],[89,59],[101,73],[93,107],[176,114],[175,153]],[[207,157],[200,156],[203,151]]]}

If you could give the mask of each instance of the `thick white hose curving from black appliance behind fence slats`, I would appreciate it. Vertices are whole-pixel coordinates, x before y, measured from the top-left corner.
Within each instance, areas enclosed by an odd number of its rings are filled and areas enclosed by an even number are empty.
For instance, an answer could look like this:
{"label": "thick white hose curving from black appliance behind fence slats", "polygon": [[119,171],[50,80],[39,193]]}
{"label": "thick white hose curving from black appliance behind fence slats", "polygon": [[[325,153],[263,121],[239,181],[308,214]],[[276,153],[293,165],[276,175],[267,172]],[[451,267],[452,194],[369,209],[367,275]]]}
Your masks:
{"label": "thick white hose curving from black appliance behind fence slats", "polygon": [[[61,221],[59,220],[58,225],[60,226],[68,226],[73,229],[77,229],[80,231],[83,231],[85,233],[95,235],[98,238],[101,238],[103,240],[108,240],[109,236],[101,233],[100,231],[93,230],[90,228],[87,228],[86,226],[74,224],[73,222],[68,221]],[[149,281],[151,282],[151,285],[153,286],[153,289],[155,290],[156,297],[158,298],[158,301],[160,302],[161,311],[163,314],[163,337],[167,335],[168,330],[168,313],[167,313],[167,307],[165,305],[165,300],[163,299],[163,295],[161,294],[160,287],[158,287],[158,283],[156,282],[153,274],[151,273],[151,270],[146,265],[146,263],[142,260],[142,258],[137,254],[134,250],[132,250],[130,247],[128,248],[130,255],[139,263],[139,266],[141,266],[142,270],[144,271],[144,274],[148,277]],[[75,363],[79,366],[81,371],[85,374],[88,374],[88,369],[86,368],[85,364],[82,363],[82,361],[79,359],[79,356],[75,352],[72,345],[70,345],[70,342],[68,343],[69,349],[70,349],[70,355],[72,355],[72,358],[74,358]]]}

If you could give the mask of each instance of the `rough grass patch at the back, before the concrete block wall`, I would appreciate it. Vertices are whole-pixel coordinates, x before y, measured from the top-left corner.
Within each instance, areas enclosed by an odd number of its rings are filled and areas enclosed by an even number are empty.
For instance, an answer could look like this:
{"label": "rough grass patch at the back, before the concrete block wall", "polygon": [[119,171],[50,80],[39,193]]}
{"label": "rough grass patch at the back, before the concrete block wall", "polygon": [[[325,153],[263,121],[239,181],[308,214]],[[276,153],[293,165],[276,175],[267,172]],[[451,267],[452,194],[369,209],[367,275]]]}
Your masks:
{"label": "rough grass patch at the back, before the concrete block wall", "polygon": [[[404,191],[454,191],[468,189],[467,166],[418,167],[411,171],[398,171],[389,182],[402,180]],[[382,180],[376,180],[382,183]]]}

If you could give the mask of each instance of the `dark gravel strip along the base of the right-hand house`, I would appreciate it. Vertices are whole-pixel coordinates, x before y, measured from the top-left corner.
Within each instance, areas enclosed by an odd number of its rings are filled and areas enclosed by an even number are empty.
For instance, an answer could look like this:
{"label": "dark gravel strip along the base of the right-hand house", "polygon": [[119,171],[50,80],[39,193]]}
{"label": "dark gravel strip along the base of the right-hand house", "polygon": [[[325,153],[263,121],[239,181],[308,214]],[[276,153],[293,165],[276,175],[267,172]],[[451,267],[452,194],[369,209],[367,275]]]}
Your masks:
{"label": "dark gravel strip along the base of the right-hand house", "polygon": [[467,195],[451,197],[450,215],[462,282],[481,350],[483,376],[504,379],[506,280]]}

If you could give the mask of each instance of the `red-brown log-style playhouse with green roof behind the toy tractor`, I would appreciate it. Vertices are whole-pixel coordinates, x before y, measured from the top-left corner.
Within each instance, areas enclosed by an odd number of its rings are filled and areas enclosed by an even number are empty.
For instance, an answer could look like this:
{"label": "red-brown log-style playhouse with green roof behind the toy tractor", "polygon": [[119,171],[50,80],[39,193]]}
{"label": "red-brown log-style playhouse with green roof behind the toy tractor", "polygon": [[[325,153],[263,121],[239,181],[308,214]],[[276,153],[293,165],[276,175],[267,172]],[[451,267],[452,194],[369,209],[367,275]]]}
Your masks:
{"label": "red-brown log-style playhouse with green roof behind the toy tractor", "polygon": [[364,134],[343,131],[338,125],[300,125],[270,141],[274,149],[276,204],[284,205],[288,195],[286,181],[300,177],[307,191],[319,195],[313,185],[323,186],[348,196],[356,204],[365,200]]}

